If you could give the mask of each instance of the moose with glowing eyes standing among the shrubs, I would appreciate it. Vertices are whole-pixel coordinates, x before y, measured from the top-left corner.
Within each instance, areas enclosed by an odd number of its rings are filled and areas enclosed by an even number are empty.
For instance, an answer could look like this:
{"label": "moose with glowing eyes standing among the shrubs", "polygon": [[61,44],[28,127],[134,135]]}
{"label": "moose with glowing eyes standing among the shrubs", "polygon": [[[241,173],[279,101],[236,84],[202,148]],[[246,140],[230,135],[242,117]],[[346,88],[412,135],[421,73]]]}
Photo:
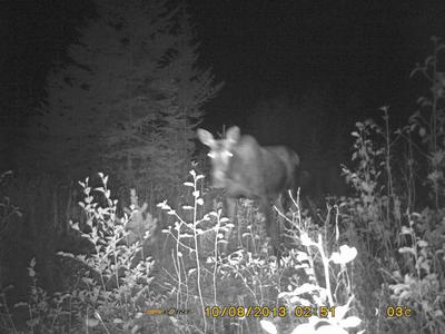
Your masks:
{"label": "moose with glowing eyes standing among the shrubs", "polygon": [[[279,264],[280,222],[274,218],[273,204],[283,212],[281,194],[294,186],[294,175],[300,163],[298,155],[285,146],[263,147],[254,137],[240,136],[236,126],[230,127],[222,139],[215,139],[204,129],[198,129],[197,135],[210,148],[212,187],[224,189],[230,220],[236,224],[238,198],[257,200]],[[230,230],[226,239],[229,235]]]}

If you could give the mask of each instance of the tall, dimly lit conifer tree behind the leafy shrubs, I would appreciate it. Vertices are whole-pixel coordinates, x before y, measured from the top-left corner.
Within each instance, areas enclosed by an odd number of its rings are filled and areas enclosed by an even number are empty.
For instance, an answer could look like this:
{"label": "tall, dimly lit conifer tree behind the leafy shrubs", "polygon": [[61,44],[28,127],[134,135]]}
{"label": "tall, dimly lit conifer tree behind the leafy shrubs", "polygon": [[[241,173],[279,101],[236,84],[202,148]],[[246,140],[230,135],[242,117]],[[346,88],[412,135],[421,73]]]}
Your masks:
{"label": "tall, dimly lit conifer tree behind the leafy shrubs", "polygon": [[172,196],[189,168],[202,106],[221,85],[197,65],[184,7],[98,1],[97,11],[70,48],[71,62],[48,78],[37,160],[71,178],[112,173],[156,200]]}

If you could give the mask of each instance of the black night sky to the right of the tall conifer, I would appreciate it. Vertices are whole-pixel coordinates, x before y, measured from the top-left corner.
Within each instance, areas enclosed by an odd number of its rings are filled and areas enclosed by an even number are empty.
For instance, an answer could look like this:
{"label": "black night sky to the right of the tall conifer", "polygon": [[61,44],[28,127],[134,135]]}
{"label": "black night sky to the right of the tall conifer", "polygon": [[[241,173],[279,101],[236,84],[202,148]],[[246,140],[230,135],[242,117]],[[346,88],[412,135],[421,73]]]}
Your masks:
{"label": "black night sky to the right of the tall conifer", "polygon": [[[224,91],[205,125],[244,125],[258,99],[309,87],[356,95],[363,114],[392,107],[396,124],[415,109],[422,80],[409,79],[445,36],[445,1],[194,1],[201,60]],[[424,82],[423,82],[424,84]],[[358,115],[357,115],[358,118]],[[358,119],[357,119],[358,120]]]}

